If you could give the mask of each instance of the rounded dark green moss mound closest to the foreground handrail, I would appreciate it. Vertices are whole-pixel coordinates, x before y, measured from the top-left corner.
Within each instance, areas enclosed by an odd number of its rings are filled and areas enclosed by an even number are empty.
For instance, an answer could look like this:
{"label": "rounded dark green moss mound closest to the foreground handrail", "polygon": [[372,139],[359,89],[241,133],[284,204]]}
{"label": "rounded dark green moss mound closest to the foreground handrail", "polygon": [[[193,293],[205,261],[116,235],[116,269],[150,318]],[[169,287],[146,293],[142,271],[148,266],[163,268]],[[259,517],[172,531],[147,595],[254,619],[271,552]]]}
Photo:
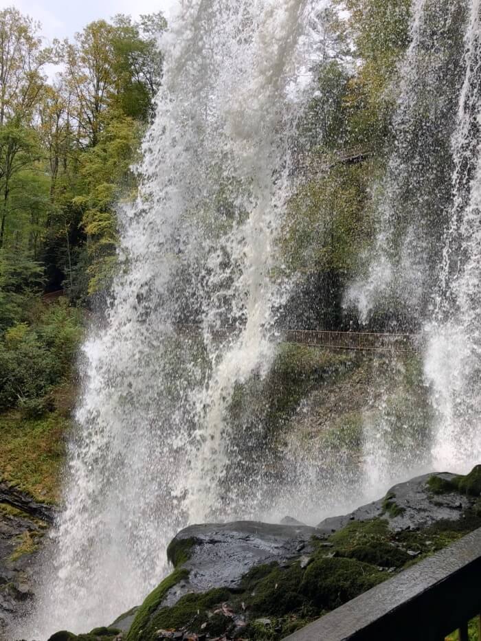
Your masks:
{"label": "rounded dark green moss mound closest to the foreground handrail", "polygon": [[385,572],[355,559],[317,559],[306,567],[300,590],[321,609],[335,609],[388,578]]}

